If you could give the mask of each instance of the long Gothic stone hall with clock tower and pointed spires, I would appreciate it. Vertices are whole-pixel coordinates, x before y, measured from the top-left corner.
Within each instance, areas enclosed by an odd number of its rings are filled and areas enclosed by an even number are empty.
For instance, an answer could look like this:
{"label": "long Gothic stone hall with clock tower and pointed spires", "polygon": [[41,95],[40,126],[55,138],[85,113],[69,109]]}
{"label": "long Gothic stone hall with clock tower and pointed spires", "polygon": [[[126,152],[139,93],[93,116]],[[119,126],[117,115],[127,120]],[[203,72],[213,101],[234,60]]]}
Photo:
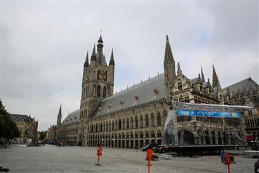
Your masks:
{"label": "long Gothic stone hall with clock tower and pointed spires", "polygon": [[[167,35],[164,73],[113,94],[114,53],[112,50],[107,64],[103,46],[101,36],[97,42],[97,51],[94,46],[93,53],[91,56],[87,53],[84,62],[79,118],[73,121],[73,125],[78,125],[75,137],[77,145],[104,144],[107,147],[137,148],[146,143],[160,144],[163,123],[172,102],[236,104],[234,94],[227,88],[221,88],[214,66],[212,82],[205,80],[202,69],[197,78],[190,79],[184,75],[180,64],[175,64]],[[256,95],[259,95],[259,89]],[[58,116],[57,121],[61,122],[61,116]],[[181,129],[184,121],[189,125]],[[184,144],[189,145],[235,145],[235,136],[227,134],[226,129],[229,127],[240,132],[240,122],[233,119],[226,118],[219,122],[217,118],[178,118],[178,130],[184,130]]]}

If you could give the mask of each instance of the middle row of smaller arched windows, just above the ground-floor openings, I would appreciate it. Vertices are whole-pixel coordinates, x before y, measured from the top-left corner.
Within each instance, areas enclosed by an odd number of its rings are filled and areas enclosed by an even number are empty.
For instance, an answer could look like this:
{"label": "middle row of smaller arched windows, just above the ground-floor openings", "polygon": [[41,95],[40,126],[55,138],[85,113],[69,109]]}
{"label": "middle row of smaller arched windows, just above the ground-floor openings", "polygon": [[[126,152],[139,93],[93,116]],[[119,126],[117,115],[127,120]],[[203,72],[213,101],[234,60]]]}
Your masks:
{"label": "middle row of smaller arched windows, just above the ground-floor openings", "polygon": [[132,132],[126,132],[126,133],[112,133],[112,134],[91,134],[87,135],[86,138],[88,139],[109,139],[109,138],[155,138],[161,137],[161,131],[158,129],[155,133],[154,130],[152,130],[150,133],[148,131],[135,131],[135,133]]}

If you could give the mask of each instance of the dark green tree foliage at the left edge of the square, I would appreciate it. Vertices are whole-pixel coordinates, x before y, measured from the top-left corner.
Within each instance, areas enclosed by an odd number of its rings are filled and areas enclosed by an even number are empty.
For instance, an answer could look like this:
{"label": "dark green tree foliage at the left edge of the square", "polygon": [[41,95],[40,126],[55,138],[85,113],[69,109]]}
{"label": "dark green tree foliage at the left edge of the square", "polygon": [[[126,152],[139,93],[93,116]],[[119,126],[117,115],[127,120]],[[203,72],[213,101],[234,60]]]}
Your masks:
{"label": "dark green tree foliage at the left edge of the square", "polygon": [[19,129],[0,100],[0,139],[19,137]]}

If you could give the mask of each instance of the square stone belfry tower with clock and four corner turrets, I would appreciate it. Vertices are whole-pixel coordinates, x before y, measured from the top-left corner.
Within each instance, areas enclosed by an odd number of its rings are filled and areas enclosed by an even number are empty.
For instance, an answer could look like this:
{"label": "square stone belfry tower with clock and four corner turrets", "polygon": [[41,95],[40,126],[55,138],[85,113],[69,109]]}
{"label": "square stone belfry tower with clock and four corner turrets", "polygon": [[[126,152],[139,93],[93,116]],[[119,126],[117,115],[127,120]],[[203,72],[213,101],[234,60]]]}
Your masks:
{"label": "square stone belfry tower with clock and four corner turrets", "polygon": [[95,45],[93,46],[90,64],[88,52],[86,54],[81,90],[80,120],[93,116],[100,100],[113,95],[115,67],[113,50],[111,51],[110,63],[107,65],[103,47],[104,42],[101,35],[97,43],[97,52]]}

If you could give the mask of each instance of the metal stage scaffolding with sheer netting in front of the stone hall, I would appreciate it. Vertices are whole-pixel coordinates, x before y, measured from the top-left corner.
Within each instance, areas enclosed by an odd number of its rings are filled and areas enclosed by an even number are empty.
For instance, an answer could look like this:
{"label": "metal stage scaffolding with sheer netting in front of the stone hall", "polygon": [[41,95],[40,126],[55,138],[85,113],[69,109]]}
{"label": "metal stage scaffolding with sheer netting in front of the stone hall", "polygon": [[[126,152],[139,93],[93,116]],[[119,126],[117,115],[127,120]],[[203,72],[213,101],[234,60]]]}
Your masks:
{"label": "metal stage scaffolding with sheer netting in front of the stone hall", "polygon": [[[211,124],[214,125],[215,129],[220,129],[220,127],[224,127],[224,133],[222,134],[223,135],[222,138],[224,138],[225,141],[223,141],[222,143],[223,145],[231,144],[230,138],[236,140],[235,145],[247,145],[247,138],[246,138],[247,134],[245,132],[244,120],[242,117],[242,112],[245,109],[252,109],[252,107],[219,105],[219,104],[192,104],[192,103],[186,103],[186,102],[174,103],[164,122],[164,129],[162,131],[162,144],[168,145],[168,146],[179,146],[184,144],[184,129],[186,129],[186,125],[188,125],[189,122],[186,121],[186,116],[185,116],[184,121],[181,122],[182,124],[180,125],[180,129],[179,129],[177,125],[179,122],[177,121],[178,121],[178,110],[187,110],[187,111],[200,111],[200,112],[206,111],[206,112],[219,112],[219,113],[238,113],[237,115],[240,115],[236,117],[238,118],[238,121],[233,121],[233,123],[234,122],[238,123],[237,124],[238,126],[226,125],[227,120],[234,120],[234,119],[227,117],[229,119],[226,120],[224,116],[216,117],[218,118],[217,122],[211,123]],[[211,116],[201,115],[200,117],[209,118]],[[204,123],[202,119],[202,121],[200,122],[199,128],[204,129],[204,124],[206,123]],[[180,133],[180,138],[178,138],[178,133]],[[204,133],[204,131],[202,133]],[[197,141],[200,140],[199,135],[200,134],[198,134]],[[205,136],[205,135],[202,134],[202,136]],[[211,136],[209,136],[208,138],[211,138]],[[196,142],[193,145],[199,145],[200,143],[204,144],[204,141],[199,141],[198,143]],[[217,143],[216,145],[219,145],[219,144]]]}

